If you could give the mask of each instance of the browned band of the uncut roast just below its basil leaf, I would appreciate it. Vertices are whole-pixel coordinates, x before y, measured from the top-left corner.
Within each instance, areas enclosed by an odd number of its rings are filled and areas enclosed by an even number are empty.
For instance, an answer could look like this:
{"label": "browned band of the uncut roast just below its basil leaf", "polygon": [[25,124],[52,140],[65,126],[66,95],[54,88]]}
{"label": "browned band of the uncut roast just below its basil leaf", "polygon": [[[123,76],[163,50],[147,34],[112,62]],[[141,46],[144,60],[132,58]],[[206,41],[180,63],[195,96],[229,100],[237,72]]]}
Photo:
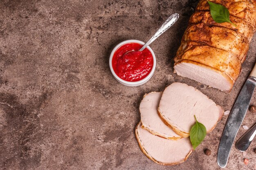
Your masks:
{"label": "browned band of the uncut roast just below its basil leaf", "polygon": [[230,15],[229,18],[231,22],[236,24],[236,26],[234,26],[233,24],[230,24],[229,22],[217,23],[213,20],[213,18],[211,17],[211,13],[209,11],[198,11],[191,15],[189,24],[193,25],[193,24],[198,24],[202,22],[209,26],[225,27],[227,29],[237,31],[237,33],[240,33],[241,35],[243,35],[250,42],[252,40],[252,36],[254,33],[253,27],[250,24],[247,24],[246,22],[244,22],[242,19],[237,18],[233,15]]}

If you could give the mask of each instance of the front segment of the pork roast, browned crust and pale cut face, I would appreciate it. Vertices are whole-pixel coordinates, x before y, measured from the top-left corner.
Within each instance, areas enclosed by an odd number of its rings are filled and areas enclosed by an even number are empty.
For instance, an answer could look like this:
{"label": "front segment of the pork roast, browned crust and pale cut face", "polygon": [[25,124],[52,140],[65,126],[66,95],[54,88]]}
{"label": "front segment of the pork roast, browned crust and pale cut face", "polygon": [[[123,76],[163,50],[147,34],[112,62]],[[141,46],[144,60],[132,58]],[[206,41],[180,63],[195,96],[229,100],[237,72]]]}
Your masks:
{"label": "front segment of the pork roast, browned crust and pale cut face", "polygon": [[174,59],[177,75],[229,92],[241,70],[239,58],[222,49],[182,42]]}

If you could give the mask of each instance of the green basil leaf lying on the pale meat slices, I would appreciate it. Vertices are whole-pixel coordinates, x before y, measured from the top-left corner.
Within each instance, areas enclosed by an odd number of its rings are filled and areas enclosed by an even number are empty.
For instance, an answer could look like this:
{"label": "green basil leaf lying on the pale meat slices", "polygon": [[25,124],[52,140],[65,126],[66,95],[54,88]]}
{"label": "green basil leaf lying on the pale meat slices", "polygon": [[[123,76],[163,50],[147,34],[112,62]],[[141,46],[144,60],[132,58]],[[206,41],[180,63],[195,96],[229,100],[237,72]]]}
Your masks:
{"label": "green basil leaf lying on the pale meat slices", "polygon": [[[195,117],[195,115],[194,115]],[[190,130],[190,141],[195,150],[195,148],[201,144],[206,136],[206,128],[203,124],[199,123],[195,117],[195,124],[192,126]]]}

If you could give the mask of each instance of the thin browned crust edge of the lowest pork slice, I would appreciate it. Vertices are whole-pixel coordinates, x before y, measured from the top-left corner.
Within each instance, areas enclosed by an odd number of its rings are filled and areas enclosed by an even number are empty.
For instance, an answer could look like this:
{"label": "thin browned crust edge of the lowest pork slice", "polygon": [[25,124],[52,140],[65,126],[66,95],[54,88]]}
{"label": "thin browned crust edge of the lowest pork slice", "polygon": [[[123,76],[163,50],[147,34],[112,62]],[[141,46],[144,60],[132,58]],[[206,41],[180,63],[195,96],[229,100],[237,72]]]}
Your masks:
{"label": "thin browned crust edge of the lowest pork slice", "polygon": [[[141,121],[140,121],[141,122]],[[139,123],[140,123],[139,122]],[[188,155],[185,157],[184,160],[180,161],[180,162],[174,162],[174,163],[162,163],[160,161],[157,161],[156,159],[154,159],[153,157],[151,157],[148,152],[144,149],[144,147],[142,146],[142,142],[141,140],[139,139],[139,134],[138,134],[138,131],[137,131],[137,127],[139,126],[139,123],[137,124],[136,128],[135,128],[135,136],[136,136],[136,139],[138,141],[138,144],[139,144],[139,148],[141,149],[141,151],[146,155],[146,157],[148,157],[149,159],[151,159],[152,161],[154,161],[155,163],[157,164],[160,164],[160,165],[177,165],[177,164],[180,164],[180,163],[183,163],[184,161],[186,161],[186,159],[188,159],[189,155],[192,153],[193,149],[190,150],[190,152],[188,153]],[[171,154],[171,153],[170,153]]]}

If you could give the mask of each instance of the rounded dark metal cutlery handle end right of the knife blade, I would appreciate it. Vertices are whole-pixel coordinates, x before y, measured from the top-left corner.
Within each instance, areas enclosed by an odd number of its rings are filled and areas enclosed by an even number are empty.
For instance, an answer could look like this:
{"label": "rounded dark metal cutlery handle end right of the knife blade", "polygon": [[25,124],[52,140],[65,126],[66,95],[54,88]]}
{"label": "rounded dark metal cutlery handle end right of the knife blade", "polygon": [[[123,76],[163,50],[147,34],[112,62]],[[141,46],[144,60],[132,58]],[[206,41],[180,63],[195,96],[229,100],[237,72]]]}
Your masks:
{"label": "rounded dark metal cutlery handle end right of the knife blade", "polygon": [[254,139],[255,135],[256,124],[236,142],[236,148],[241,152],[245,152],[245,150],[247,150],[250,144],[252,143],[252,140]]}

